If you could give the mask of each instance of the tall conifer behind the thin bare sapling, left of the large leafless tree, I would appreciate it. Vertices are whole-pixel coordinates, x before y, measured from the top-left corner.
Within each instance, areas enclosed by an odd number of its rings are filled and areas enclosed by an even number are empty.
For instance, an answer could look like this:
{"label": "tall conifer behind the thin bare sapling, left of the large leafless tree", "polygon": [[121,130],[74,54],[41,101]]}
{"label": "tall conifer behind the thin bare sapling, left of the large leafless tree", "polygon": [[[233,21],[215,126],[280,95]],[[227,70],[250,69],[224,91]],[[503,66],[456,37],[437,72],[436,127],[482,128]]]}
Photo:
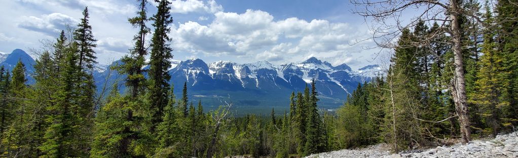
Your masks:
{"label": "tall conifer behind the thin bare sapling, left of the large leafless tree", "polygon": [[[404,30],[399,38],[399,46],[408,46],[408,43],[416,39],[410,30]],[[405,147],[412,147],[413,141],[421,142],[421,124],[415,117],[421,117],[420,111],[420,87],[418,66],[416,58],[416,47],[396,48],[394,57],[391,59],[392,65],[389,70],[387,82],[390,82],[391,102],[385,115],[389,133],[389,142],[392,143],[393,150],[399,151]]]}

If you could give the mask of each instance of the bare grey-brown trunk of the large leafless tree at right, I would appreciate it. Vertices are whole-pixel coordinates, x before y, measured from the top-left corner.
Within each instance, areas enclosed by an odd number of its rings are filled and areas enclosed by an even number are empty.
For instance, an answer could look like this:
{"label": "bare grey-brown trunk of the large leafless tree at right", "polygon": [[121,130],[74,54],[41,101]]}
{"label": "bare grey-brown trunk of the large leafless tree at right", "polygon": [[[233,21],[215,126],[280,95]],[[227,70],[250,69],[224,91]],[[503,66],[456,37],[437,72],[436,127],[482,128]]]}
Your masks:
{"label": "bare grey-brown trunk of the large leafless tree at right", "polygon": [[452,33],[452,51],[454,60],[454,78],[452,87],[453,101],[455,102],[455,111],[458,114],[458,122],[461,126],[461,136],[464,143],[471,140],[471,130],[468,115],[468,107],[466,104],[466,80],[464,78],[464,65],[461,49],[461,31],[458,23],[458,2],[457,0],[450,1],[450,18],[451,18],[451,33]]}

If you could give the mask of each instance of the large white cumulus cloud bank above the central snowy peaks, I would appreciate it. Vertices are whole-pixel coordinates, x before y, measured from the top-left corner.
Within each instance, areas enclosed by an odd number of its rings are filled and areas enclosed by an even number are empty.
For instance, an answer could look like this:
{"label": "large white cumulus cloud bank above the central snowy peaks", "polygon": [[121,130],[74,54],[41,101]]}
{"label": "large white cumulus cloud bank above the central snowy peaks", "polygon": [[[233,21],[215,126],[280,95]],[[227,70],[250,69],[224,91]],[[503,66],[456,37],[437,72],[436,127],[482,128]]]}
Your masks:
{"label": "large white cumulus cloud bank above the central snowy peaks", "polygon": [[[344,54],[365,50],[349,45],[351,41],[369,36],[365,28],[327,20],[287,18],[274,20],[270,13],[248,9],[244,13],[216,12],[214,20],[202,25],[189,21],[174,27],[173,47],[186,52],[228,54],[247,59],[303,60],[318,54],[332,63],[357,64]],[[287,58],[295,56],[295,58]],[[298,56],[298,57],[297,57]],[[341,64],[341,63],[340,63]]]}

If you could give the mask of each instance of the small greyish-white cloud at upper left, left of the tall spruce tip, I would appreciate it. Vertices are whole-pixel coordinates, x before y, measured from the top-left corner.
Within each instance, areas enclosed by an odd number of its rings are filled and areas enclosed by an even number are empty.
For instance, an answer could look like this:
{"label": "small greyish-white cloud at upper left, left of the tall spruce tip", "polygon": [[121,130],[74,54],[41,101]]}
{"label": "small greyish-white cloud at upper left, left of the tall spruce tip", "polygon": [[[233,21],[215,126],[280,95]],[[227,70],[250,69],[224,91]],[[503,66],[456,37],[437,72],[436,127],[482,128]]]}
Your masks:
{"label": "small greyish-white cloud at upper left, left of the tall spruce tip", "polygon": [[18,23],[18,27],[44,33],[49,36],[55,36],[61,32],[67,24],[73,25],[78,23],[78,20],[62,13],[51,13],[49,15],[41,15],[40,17],[23,16],[20,19],[21,22]]}

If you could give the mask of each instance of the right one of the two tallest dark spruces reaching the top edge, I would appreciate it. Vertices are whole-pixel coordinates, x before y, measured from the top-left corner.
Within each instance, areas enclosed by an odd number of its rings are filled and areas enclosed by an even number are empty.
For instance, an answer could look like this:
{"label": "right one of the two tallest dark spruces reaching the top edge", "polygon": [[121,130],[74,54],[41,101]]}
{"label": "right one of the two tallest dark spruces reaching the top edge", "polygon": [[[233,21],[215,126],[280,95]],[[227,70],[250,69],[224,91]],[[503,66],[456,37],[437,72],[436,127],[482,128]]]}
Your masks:
{"label": "right one of the two tallest dark spruces reaching the top edge", "polygon": [[171,39],[168,37],[170,32],[169,24],[172,23],[170,15],[170,2],[166,0],[155,0],[158,4],[156,14],[151,18],[154,21],[153,37],[151,38],[151,58],[149,69],[149,100],[151,108],[155,110],[153,113],[153,126],[162,122],[164,107],[167,105],[167,89],[169,88],[169,79],[167,73],[170,67],[170,59],[172,58],[172,49],[167,44]]}

